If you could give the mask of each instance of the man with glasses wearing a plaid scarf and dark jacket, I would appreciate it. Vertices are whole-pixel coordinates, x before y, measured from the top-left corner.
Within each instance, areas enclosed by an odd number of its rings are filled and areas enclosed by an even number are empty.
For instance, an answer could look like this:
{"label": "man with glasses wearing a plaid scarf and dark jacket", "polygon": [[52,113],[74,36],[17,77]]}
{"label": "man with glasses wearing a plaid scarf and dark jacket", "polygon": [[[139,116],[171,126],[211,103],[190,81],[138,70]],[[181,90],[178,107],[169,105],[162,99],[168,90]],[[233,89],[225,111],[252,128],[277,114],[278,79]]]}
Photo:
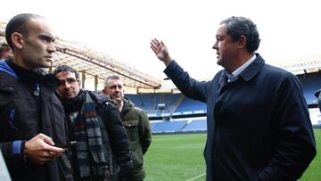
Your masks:
{"label": "man with glasses wearing a plaid scarf and dark jacket", "polygon": [[115,175],[113,167],[120,169],[119,181],[127,179],[132,167],[129,141],[115,105],[106,95],[80,89],[78,72],[67,65],[58,66],[53,75],[62,82],[57,92],[66,111],[69,140],[77,141],[70,147],[75,179],[109,181]]}

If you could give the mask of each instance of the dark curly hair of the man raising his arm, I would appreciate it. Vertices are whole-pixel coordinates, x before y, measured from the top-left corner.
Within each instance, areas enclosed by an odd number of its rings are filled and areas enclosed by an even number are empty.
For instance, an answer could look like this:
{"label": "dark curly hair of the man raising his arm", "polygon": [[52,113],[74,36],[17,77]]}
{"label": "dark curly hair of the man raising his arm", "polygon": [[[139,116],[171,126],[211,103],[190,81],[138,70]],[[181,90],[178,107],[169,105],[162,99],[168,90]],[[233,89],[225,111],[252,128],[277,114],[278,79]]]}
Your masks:
{"label": "dark curly hair of the man raising his arm", "polygon": [[226,24],[227,34],[234,41],[239,40],[241,36],[246,37],[246,48],[250,52],[254,52],[259,48],[259,31],[256,25],[248,18],[232,16],[220,24]]}

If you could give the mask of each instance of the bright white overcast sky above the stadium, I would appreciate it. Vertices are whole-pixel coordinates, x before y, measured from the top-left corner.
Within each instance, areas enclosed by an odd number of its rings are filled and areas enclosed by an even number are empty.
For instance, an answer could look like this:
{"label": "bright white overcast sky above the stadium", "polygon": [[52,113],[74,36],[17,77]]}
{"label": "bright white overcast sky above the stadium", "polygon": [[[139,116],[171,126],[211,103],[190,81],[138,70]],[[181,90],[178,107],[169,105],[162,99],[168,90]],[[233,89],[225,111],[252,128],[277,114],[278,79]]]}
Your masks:
{"label": "bright white overcast sky above the stadium", "polygon": [[258,52],[268,62],[321,53],[317,0],[4,0],[0,21],[22,12],[44,16],[58,37],[94,48],[156,78],[164,65],[150,48],[157,37],[194,78],[221,68],[211,49],[219,21],[245,16],[259,29]]}

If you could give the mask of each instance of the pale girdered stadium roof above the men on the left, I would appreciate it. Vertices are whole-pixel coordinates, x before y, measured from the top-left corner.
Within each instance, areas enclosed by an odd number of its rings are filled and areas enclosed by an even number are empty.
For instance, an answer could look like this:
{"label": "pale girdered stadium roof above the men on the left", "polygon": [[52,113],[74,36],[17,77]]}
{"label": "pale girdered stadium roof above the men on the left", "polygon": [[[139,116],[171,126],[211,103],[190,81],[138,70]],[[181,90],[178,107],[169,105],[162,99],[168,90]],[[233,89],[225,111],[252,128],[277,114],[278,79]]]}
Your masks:
{"label": "pale girdered stadium roof above the men on the left", "polygon": [[[0,43],[4,43],[4,29],[6,23],[0,21]],[[83,87],[86,83],[103,87],[105,78],[118,75],[125,81],[125,86],[138,89],[159,89],[161,80],[137,70],[135,67],[119,62],[106,53],[97,52],[86,45],[71,42],[57,37],[55,42],[56,53],[53,55],[53,65],[49,70],[54,70],[57,65],[66,64],[78,70],[81,75]]]}

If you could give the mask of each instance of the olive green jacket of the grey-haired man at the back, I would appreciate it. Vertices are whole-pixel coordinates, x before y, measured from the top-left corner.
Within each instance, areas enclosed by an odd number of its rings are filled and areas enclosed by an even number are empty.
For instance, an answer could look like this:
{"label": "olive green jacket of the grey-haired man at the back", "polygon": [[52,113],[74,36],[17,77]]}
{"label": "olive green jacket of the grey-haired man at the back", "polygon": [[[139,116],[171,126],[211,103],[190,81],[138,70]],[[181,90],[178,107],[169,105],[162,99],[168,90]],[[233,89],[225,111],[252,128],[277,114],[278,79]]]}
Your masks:
{"label": "olive green jacket of the grey-haired man at the back", "polygon": [[120,111],[120,117],[128,133],[131,159],[133,160],[130,180],[143,179],[145,177],[143,155],[152,142],[150,122],[145,111],[137,108],[127,98],[124,98],[123,102],[124,106]]}

